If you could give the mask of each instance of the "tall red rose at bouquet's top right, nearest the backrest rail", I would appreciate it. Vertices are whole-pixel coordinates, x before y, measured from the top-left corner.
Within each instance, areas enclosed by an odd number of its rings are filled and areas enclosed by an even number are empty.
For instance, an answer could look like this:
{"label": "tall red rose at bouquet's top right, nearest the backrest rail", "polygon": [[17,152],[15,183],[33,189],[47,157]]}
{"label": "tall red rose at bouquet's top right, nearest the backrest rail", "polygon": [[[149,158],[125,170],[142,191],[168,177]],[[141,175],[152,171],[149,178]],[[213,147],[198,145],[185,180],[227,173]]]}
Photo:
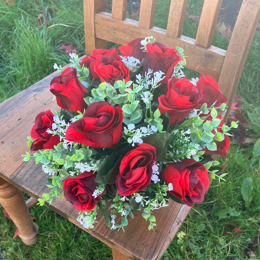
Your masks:
{"label": "tall red rose at bouquet's top right, nearest the backrest rail", "polygon": [[152,69],[153,72],[163,72],[165,78],[160,81],[161,85],[159,88],[161,88],[172,77],[174,67],[182,60],[175,48],[168,48],[159,42],[155,42],[154,46],[151,43],[147,43],[143,73],[147,73],[148,69]]}

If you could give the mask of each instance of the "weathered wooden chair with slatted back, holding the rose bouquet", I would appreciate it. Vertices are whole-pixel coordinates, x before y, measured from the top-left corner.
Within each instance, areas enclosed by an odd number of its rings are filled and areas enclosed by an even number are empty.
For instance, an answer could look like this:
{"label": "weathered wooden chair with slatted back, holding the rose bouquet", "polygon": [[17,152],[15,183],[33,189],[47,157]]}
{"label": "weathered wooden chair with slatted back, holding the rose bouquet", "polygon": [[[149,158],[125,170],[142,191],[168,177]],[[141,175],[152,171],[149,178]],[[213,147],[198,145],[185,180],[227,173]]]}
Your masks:
{"label": "weathered wooden chair with slatted back, holding the rose bouquet", "polygon": [[[196,39],[181,35],[187,0],[172,0],[167,29],[153,27],[156,0],[142,0],[139,22],[126,17],[126,0],[113,0],[112,14],[105,12],[105,0],[84,0],[86,53],[94,48],[106,48],[106,40],[125,44],[126,40],[153,35],[169,47],[184,48],[187,67],[218,80],[219,87],[231,104],[242,69],[260,19],[260,1],[244,0],[232,33],[228,50],[211,46],[221,0],[205,0]],[[59,109],[52,102],[49,84],[55,72],[28,89],[0,104],[0,203],[18,227],[25,244],[37,241],[37,225],[30,218],[21,191],[33,198],[49,192],[44,184],[48,176],[33,160],[22,161],[27,138],[35,116],[43,110]],[[29,203],[27,203],[29,204]],[[48,204],[46,206],[49,206]],[[49,206],[76,225],[77,210],[62,198]],[[86,230],[112,247],[114,260],[159,260],[177,233],[190,208],[173,201],[166,208],[154,211],[157,226],[148,231],[141,212],[134,213],[125,233],[117,235],[107,228],[101,214],[94,229]],[[120,218],[118,218],[120,220]]]}

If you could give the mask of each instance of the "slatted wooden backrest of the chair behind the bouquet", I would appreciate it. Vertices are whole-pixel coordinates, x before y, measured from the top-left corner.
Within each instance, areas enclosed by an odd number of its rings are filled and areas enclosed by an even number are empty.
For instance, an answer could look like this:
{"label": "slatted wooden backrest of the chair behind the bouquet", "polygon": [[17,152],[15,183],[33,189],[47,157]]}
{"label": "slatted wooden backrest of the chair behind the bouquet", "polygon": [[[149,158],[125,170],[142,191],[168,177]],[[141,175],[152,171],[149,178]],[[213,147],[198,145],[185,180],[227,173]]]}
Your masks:
{"label": "slatted wooden backrest of the chair behind the bouquet", "polygon": [[112,14],[105,12],[105,0],[84,0],[86,54],[106,49],[106,40],[125,45],[152,35],[167,47],[183,48],[186,67],[217,80],[230,109],[260,19],[260,1],[243,1],[227,51],[211,45],[222,0],[204,1],[196,39],[181,35],[187,3],[171,0],[164,30],[153,26],[156,0],[141,0],[139,22],[126,18],[127,0],[113,0]]}

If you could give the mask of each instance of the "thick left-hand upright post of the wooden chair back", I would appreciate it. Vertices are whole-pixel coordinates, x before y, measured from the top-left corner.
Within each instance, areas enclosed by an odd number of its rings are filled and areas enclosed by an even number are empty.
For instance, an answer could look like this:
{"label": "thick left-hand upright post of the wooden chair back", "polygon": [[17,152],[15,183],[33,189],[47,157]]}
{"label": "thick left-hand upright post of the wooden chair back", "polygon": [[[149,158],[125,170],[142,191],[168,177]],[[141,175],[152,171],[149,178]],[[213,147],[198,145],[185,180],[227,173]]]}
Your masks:
{"label": "thick left-hand upright post of the wooden chair back", "polygon": [[93,49],[106,49],[107,41],[95,37],[95,13],[106,11],[106,0],[84,0],[84,30],[86,54],[90,55]]}

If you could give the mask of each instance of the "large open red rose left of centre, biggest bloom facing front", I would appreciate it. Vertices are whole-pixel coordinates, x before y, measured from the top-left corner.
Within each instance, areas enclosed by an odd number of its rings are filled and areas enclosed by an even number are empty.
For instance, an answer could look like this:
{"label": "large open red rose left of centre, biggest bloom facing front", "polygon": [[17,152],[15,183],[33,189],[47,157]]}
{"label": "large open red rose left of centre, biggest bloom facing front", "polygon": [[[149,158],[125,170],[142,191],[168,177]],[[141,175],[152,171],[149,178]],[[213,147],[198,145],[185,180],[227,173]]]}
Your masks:
{"label": "large open red rose left of centre, biggest bloom facing front", "polygon": [[72,123],[66,131],[66,140],[91,147],[109,147],[122,135],[123,111],[106,101],[90,103],[83,118]]}

